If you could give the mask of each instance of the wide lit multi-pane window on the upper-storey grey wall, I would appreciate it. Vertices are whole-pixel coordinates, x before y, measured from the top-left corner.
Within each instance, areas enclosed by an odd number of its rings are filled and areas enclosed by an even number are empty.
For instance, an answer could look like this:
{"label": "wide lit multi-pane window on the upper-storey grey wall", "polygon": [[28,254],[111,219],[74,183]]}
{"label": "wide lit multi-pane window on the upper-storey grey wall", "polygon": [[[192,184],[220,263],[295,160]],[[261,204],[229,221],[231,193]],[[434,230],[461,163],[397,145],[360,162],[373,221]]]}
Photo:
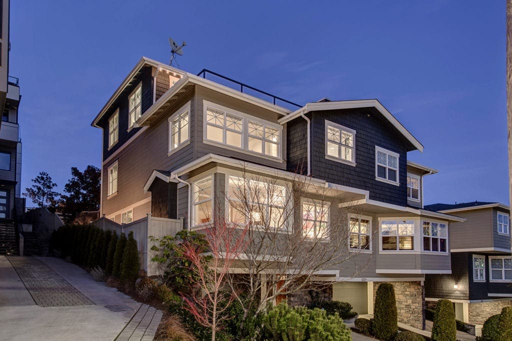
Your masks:
{"label": "wide lit multi-pane window on the upper-storey grey wall", "polygon": [[205,104],[204,120],[207,142],[246,153],[281,157],[282,127],[278,124],[212,104]]}

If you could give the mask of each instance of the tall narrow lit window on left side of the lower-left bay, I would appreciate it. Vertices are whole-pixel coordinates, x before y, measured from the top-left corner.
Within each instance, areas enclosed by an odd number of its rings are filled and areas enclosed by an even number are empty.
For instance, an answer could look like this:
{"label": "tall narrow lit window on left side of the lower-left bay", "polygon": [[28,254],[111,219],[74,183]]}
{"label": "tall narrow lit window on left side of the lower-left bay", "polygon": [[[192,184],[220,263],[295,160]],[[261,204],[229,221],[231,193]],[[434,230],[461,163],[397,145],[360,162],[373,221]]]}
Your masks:
{"label": "tall narrow lit window on left side of the lower-left bay", "polygon": [[193,187],[193,225],[206,224],[211,222],[213,211],[213,182],[214,176],[210,175],[201,180],[195,181]]}

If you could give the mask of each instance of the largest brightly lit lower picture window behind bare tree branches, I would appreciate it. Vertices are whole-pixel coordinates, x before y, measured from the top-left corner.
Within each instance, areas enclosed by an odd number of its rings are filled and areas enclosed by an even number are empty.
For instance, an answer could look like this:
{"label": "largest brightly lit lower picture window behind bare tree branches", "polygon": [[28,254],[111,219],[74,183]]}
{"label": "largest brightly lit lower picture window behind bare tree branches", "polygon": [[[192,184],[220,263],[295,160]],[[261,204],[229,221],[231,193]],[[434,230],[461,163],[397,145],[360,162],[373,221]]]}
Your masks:
{"label": "largest brightly lit lower picture window behind bare tree branches", "polygon": [[286,187],[229,176],[229,221],[286,228]]}

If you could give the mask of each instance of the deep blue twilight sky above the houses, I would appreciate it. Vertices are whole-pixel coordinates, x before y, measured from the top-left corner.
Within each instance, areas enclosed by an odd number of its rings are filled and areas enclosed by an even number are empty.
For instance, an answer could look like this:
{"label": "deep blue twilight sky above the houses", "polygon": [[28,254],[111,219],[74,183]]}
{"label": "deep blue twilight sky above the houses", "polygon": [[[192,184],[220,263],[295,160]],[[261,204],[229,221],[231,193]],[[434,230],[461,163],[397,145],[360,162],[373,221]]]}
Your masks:
{"label": "deep blue twilight sky above the houses", "polygon": [[298,103],[378,98],[439,170],[425,203],[508,203],[504,1],[11,1],[23,187],[100,166],[91,121],[144,55]]}

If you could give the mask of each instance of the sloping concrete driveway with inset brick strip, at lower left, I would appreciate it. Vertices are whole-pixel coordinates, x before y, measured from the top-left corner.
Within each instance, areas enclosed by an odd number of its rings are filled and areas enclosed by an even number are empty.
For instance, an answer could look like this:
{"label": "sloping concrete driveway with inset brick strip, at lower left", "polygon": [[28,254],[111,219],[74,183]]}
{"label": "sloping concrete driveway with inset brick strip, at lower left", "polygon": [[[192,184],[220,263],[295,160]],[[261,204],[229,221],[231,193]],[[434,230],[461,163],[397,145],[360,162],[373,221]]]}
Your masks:
{"label": "sloping concrete driveway with inset brick strip, at lower left", "polygon": [[160,318],[62,259],[0,256],[0,340],[151,340]]}

